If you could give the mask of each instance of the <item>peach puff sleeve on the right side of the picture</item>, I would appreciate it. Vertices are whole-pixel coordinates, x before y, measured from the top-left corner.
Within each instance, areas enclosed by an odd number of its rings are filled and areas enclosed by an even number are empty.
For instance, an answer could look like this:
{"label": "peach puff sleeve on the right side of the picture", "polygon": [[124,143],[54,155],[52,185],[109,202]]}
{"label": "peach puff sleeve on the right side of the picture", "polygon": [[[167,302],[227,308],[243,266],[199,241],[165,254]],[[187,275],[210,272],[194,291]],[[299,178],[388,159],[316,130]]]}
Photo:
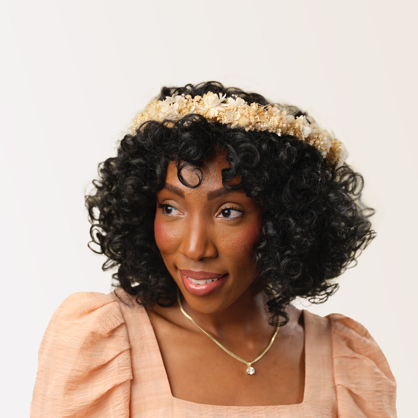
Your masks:
{"label": "peach puff sleeve on the right side of the picture", "polygon": [[347,316],[327,317],[331,322],[338,417],[396,417],[395,378],[369,331]]}

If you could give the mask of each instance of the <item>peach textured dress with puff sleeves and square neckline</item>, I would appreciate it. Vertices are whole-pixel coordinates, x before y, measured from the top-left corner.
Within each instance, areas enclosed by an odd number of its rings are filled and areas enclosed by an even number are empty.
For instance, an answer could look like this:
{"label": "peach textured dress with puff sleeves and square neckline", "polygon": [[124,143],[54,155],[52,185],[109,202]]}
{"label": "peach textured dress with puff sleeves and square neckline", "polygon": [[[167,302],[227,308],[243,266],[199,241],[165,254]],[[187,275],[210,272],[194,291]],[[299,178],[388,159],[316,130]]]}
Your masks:
{"label": "peach textured dress with puff sleeves and square neckline", "polygon": [[122,289],[79,292],[55,311],[38,353],[32,418],[396,417],[395,379],[358,322],[304,310],[305,392],[294,405],[174,398],[148,314]]}

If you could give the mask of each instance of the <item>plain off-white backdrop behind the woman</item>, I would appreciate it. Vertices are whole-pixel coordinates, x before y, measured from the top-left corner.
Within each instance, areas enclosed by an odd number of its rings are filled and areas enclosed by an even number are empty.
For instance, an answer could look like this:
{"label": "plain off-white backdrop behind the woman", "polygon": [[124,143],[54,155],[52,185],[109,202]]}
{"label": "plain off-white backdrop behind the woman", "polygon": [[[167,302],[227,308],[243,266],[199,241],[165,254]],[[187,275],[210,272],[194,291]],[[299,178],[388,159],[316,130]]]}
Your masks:
{"label": "plain off-white backdrop behind the woman", "polygon": [[[307,110],[344,142],[377,237],[314,313],[369,329],[417,393],[416,7],[397,1],[16,1],[0,10],[2,415],[29,415],[43,332],[109,293],[84,192],[163,85],[217,80]],[[307,304],[304,303],[306,306]]]}

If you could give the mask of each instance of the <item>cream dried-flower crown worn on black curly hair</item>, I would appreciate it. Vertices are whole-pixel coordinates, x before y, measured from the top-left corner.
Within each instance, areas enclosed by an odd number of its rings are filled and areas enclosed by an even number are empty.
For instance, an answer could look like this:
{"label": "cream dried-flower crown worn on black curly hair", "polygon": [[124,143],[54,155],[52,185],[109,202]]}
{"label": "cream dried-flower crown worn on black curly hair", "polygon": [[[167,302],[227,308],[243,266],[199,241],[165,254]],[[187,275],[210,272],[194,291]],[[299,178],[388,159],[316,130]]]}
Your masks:
{"label": "cream dried-flower crown worn on black curly hair", "polygon": [[316,122],[309,123],[306,116],[287,114],[285,107],[279,104],[262,106],[257,103],[250,105],[241,97],[233,94],[215,94],[207,92],[202,96],[191,97],[190,94],[166,96],[165,100],[152,100],[145,109],[135,116],[130,132],[135,134],[141,123],[147,120],[163,122],[180,119],[184,115],[197,113],[209,122],[227,124],[231,128],[244,128],[246,131],[268,131],[277,135],[293,135],[317,148],[323,158],[331,166],[336,167],[348,157],[348,152],[341,141],[334,135],[319,127]]}

